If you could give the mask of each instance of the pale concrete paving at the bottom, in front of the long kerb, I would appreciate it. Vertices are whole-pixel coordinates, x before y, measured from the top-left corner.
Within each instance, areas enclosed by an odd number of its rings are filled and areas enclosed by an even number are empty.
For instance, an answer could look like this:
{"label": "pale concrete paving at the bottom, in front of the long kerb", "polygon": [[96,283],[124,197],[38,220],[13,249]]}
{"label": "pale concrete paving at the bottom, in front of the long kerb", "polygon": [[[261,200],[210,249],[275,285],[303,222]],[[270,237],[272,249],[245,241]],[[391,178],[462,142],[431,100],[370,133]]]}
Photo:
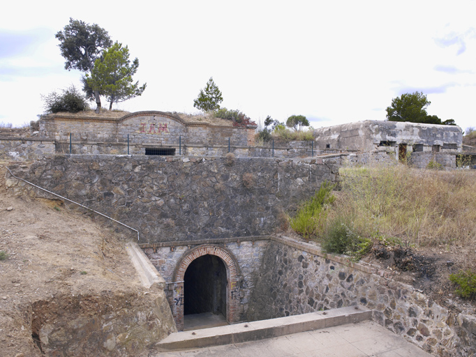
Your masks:
{"label": "pale concrete paving at the bottom, in front of the long kerb", "polygon": [[253,342],[186,351],[152,352],[148,356],[430,357],[431,355],[375,322],[364,321]]}

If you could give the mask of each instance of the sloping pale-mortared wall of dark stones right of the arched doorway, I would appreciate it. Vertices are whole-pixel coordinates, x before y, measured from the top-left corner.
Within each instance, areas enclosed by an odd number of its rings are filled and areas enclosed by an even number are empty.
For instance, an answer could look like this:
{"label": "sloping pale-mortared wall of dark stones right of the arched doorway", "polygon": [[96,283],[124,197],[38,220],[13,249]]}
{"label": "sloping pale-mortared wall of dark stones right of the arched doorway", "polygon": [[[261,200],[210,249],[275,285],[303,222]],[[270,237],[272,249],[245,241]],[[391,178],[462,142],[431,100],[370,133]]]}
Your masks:
{"label": "sloping pale-mortared wall of dark stones right of the arched doorway", "polygon": [[317,246],[273,240],[251,294],[250,321],[362,304],[379,324],[426,351],[475,356],[474,316],[456,315],[413,287],[382,278],[375,268],[326,257]]}

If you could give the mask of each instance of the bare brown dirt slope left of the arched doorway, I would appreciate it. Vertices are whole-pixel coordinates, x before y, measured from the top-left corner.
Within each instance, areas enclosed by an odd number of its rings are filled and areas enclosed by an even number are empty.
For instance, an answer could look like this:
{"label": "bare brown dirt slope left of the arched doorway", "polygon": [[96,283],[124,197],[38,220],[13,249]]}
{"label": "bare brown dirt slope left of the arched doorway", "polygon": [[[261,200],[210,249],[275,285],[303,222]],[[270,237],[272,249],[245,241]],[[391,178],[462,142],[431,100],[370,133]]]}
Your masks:
{"label": "bare brown dirt slope left of the arched doorway", "polygon": [[83,303],[82,312],[94,315],[101,301],[114,309],[124,303],[117,296],[144,288],[124,241],[60,201],[15,197],[6,189],[6,164],[0,162],[0,252],[7,255],[0,260],[0,355],[41,356],[38,324],[55,318],[51,305],[61,306],[57,316],[88,296],[95,303]]}

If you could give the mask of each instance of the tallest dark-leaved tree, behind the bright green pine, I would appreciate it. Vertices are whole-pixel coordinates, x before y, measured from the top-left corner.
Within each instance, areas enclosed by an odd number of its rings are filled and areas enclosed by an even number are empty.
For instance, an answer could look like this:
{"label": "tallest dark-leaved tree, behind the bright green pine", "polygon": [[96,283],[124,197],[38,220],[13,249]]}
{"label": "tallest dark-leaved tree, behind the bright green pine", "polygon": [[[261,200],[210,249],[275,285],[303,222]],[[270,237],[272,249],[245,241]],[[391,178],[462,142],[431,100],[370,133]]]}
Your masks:
{"label": "tallest dark-leaved tree, behind the bright green pine", "polygon": [[[77,69],[85,73],[92,73],[96,59],[101,57],[103,50],[112,45],[112,40],[105,29],[97,24],[86,24],[80,20],[69,19],[69,24],[63,31],[58,31],[55,37],[60,41],[61,56],[66,62],[67,70]],[[96,99],[96,113],[101,109],[101,97],[94,91]]]}

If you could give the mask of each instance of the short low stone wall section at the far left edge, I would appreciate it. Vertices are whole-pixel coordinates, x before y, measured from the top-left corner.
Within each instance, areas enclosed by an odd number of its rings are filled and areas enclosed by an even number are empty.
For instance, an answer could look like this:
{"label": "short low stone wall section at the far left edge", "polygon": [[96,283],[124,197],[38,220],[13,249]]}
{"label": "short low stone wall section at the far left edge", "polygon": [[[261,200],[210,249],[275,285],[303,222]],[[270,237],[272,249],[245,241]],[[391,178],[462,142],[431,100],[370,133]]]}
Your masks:
{"label": "short low stone wall section at the far left edge", "polygon": [[0,137],[0,156],[14,160],[40,160],[54,155],[54,141],[34,137]]}

